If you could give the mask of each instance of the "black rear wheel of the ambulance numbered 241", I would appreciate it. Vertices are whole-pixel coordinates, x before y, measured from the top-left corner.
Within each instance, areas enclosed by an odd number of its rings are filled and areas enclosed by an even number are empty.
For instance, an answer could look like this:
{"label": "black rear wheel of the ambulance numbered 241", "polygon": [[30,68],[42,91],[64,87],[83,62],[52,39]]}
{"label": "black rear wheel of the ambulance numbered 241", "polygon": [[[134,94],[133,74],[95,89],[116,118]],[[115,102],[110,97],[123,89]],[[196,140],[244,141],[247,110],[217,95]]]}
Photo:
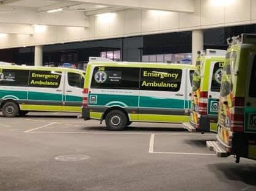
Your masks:
{"label": "black rear wheel of the ambulance numbered 241", "polygon": [[113,110],[110,111],[105,119],[106,129],[113,131],[121,131],[127,124],[127,117],[123,111]]}

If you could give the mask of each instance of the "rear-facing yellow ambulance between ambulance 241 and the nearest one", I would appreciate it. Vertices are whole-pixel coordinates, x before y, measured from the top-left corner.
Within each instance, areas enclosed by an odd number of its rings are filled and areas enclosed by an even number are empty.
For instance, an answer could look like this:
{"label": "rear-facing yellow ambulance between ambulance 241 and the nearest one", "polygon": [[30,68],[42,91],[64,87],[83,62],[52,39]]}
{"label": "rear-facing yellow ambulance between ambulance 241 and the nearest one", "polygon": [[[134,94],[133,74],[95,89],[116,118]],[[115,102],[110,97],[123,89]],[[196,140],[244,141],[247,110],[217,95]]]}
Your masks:
{"label": "rear-facing yellow ambulance between ambulance 241 and the nearest one", "polygon": [[225,50],[199,52],[192,80],[191,114],[183,123],[188,131],[217,131],[219,91]]}

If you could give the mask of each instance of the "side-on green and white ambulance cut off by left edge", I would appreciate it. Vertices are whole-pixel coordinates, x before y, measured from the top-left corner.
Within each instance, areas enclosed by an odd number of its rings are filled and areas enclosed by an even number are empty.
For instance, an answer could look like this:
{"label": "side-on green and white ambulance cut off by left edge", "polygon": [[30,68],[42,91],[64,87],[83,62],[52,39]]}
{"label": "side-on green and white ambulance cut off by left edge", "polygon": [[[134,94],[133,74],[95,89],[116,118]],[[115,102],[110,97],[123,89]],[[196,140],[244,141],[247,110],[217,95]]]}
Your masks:
{"label": "side-on green and white ambulance cut off by left edge", "polygon": [[84,71],[0,64],[3,116],[29,111],[81,112]]}

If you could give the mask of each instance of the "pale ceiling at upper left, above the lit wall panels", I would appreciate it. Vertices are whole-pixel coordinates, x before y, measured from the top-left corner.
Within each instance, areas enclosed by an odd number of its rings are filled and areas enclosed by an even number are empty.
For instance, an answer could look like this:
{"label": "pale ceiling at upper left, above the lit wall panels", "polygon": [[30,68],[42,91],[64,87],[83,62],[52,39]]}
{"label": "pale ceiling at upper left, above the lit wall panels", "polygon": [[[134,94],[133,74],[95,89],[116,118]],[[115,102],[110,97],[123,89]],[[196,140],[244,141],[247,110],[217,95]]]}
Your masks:
{"label": "pale ceiling at upper left, above the lit wall panels", "polygon": [[0,0],[0,33],[32,35],[35,25],[90,27],[89,16],[125,9],[191,13],[194,0]]}

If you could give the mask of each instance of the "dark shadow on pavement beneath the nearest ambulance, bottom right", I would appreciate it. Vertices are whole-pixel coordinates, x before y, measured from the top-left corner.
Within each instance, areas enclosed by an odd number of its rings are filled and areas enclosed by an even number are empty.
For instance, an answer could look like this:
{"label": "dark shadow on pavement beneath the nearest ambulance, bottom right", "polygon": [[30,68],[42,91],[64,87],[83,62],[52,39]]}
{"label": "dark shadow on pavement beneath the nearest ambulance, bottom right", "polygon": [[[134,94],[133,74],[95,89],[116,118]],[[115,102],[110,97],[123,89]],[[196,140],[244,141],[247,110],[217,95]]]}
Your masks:
{"label": "dark shadow on pavement beneath the nearest ambulance, bottom right", "polygon": [[[236,164],[234,159],[233,162],[231,164],[210,164],[208,167],[221,182],[240,181],[250,186],[256,186],[255,161],[252,161],[252,164]],[[241,162],[243,162],[243,159],[241,159]]]}

